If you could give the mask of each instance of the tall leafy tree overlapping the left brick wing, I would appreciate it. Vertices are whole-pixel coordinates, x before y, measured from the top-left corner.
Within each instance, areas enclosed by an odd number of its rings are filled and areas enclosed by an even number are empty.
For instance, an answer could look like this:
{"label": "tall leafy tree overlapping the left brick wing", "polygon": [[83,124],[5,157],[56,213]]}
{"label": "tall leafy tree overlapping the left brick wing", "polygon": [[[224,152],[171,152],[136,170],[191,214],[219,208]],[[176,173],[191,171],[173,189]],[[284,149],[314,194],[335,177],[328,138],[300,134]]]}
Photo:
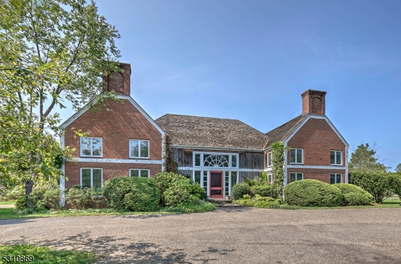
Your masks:
{"label": "tall leafy tree overlapping the left brick wing", "polygon": [[[85,0],[0,0],[0,181],[54,180],[68,151],[53,136],[55,106],[74,109],[97,97],[100,111],[112,92],[102,76],[121,72],[119,34]],[[52,136],[53,135],[53,136]]]}

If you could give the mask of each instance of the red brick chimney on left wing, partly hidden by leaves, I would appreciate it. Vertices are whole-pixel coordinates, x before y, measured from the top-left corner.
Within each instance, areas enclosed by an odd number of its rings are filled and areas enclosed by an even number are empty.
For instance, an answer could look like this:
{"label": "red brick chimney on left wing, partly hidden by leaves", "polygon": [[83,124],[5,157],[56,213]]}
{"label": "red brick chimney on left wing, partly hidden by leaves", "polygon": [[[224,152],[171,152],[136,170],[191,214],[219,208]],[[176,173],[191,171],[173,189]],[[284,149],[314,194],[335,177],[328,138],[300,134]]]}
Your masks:
{"label": "red brick chimney on left wing, partly hidden by leaves", "polygon": [[119,63],[118,66],[123,72],[111,72],[103,76],[103,83],[106,91],[114,90],[115,93],[130,94],[131,92],[131,64]]}

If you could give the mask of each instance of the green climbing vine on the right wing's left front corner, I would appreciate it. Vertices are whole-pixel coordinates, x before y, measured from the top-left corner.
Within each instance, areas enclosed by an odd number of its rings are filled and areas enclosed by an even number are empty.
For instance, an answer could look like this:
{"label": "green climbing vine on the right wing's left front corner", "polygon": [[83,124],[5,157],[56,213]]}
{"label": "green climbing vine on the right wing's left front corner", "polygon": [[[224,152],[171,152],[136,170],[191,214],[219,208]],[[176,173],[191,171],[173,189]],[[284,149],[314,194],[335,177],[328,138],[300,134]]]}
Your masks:
{"label": "green climbing vine on the right wing's left front corner", "polygon": [[279,197],[282,197],[284,201],[284,151],[290,149],[284,147],[283,142],[276,142],[272,144],[272,162],[273,162],[273,188]]}

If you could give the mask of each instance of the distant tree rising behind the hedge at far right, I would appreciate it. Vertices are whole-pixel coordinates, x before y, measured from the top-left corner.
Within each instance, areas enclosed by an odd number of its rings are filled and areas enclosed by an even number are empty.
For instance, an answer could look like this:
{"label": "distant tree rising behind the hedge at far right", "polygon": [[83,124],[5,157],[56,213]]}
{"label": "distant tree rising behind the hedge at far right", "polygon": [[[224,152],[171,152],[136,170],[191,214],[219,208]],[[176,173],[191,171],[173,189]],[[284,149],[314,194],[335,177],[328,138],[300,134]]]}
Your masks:
{"label": "distant tree rising behind the hedge at far right", "polygon": [[390,167],[384,166],[380,163],[380,157],[376,154],[377,148],[376,143],[373,144],[373,148],[369,144],[361,144],[351,154],[348,167],[349,172],[376,172],[384,173]]}

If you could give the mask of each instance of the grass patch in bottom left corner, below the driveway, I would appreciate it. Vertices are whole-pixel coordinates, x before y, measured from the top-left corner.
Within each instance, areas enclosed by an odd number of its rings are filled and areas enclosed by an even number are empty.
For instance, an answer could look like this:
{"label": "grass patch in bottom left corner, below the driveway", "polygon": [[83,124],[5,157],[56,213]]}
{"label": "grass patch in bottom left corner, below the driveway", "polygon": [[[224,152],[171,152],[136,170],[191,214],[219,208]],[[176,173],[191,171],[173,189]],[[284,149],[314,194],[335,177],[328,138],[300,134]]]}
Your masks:
{"label": "grass patch in bottom left corner, below the driveway", "polygon": [[[21,245],[0,245],[0,256],[6,256],[7,263],[18,263],[22,261],[14,259],[13,256],[33,256],[33,262],[25,261],[28,263],[64,263],[64,264],[89,264],[96,260],[95,254],[88,251],[78,250],[56,250],[48,246],[33,246],[27,244]],[[7,261],[7,256],[11,257],[11,261]],[[31,257],[32,259],[32,257]]]}

